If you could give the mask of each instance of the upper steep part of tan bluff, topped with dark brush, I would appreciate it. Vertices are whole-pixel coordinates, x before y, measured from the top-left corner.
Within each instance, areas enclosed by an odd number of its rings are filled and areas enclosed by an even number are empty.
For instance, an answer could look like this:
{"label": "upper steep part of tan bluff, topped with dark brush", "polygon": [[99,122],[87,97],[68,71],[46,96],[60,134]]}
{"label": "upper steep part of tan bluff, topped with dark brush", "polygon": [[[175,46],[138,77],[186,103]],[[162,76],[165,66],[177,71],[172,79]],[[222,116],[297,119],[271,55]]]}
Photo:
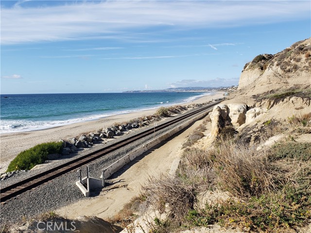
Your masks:
{"label": "upper steep part of tan bluff, topped with dark brush", "polygon": [[242,71],[238,95],[311,87],[311,38],[272,55],[261,54]]}

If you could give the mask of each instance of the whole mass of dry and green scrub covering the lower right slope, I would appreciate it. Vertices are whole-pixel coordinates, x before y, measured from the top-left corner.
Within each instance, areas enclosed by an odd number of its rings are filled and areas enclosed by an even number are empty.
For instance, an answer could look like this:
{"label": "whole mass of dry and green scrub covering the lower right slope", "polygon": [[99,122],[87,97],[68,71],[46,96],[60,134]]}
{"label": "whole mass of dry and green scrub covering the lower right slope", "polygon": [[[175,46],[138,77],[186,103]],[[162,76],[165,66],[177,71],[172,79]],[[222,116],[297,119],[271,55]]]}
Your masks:
{"label": "whole mass of dry and green scrub covering the lower right slope", "polygon": [[[219,224],[252,232],[291,232],[311,218],[311,143],[269,150],[219,141],[209,150],[187,148],[176,177],[154,179],[144,190],[165,219],[154,232]],[[303,161],[303,163],[302,163]],[[199,204],[207,190],[229,198]],[[287,229],[287,230],[286,230]]]}

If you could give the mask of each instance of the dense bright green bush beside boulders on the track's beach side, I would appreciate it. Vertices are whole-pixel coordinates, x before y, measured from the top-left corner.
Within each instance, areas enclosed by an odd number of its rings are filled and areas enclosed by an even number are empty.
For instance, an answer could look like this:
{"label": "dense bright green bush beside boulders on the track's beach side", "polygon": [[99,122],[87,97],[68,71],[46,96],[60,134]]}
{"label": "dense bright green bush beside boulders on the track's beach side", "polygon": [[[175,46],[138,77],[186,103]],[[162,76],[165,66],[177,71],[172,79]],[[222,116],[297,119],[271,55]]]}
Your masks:
{"label": "dense bright green bush beside boulders on the track's beach side", "polygon": [[60,153],[62,142],[49,142],[36,145],[33,148],[20,152],[9,164],[7,172],[14,170],[29,170],[37,164],[42,164],[48,154]]}

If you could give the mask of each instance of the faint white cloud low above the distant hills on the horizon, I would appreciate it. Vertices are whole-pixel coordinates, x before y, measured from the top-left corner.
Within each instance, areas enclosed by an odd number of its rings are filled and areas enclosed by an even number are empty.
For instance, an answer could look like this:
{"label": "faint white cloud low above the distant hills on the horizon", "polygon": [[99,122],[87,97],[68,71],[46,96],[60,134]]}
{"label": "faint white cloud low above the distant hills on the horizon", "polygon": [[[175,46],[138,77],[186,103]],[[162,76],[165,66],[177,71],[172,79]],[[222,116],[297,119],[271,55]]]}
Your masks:
{"label": "faint white cloud low above the distant hills on the horizon", "polygon": [[218,87],[218,86],[232,86],[239,83],[239,78],[216,78],[210,80],[195,80],[195,79],[184,79],[177,81],[175,83],[169,83],[171,87],[188,87],[188,86],[197,86],[197,87]]}

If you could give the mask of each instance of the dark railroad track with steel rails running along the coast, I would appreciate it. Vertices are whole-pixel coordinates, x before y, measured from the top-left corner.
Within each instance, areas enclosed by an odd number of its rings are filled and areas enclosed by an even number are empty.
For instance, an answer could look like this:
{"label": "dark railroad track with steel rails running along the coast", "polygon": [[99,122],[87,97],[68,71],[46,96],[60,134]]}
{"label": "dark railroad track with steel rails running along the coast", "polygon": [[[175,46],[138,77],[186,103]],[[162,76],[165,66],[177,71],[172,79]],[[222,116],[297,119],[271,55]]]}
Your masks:
{"label": "dark railroad track with steel rails running along the coast", "polygon": [[140,138],[143,138],[145,136],[153,134],[154,132],[157,132],[161,129],[164,129],[167,126],[170,126],[170,125],[172,125],[178,121],[181,121],[183,119],[186,119],[190,116],[193,116],[193,115],[198,114],[198,113],[203,112],[203,111],[210,110],[213,106],[219,104],[220,102],[221,101],[214,102],[214,103],[209,104],[207,106],[196,109],[190,113],[184,114],[182,116],[174,117],[172,120],[164,122],[164,123],[156,126],[155,128],[147,129],[141,133],[130,136],[130,137],[125,138],[121,141],[112,143],[111,145],[108,145],[107,147],[104,147],[100,150],[93,151],[93,152],[86,154],[82,157],[76,158],[76,159],[71,160],[71,161],[64,163],[62,165],[59,165],[59,166],[53,167],[49,170],[46,170],[40,174],[29,177],[25,180],[14,183],[14,184],[9,185],[7,187],[1,188],[0,189],[0,201],[2,203],[3,201],[17,197],[18,195],[20,195],[26,191],[29,191],[29,190],[31,190],[31,189],[33,189],[33,188],[35,188],[35,187],[37,187],[43,183],[47,183],[48,181],[51,181],[52,179],[54,179],[56,177],[59,177],[63,174],[66,174],[66,173],[68,173],[68,172],[70,172],[70,171],[72,171],[72,170],[74,170],[80,166],[86,165],[86,164],[88,164],[88,163],[90,163],[90,162],[114,151],[114,150],[118,150],[121,147],[123,147],[127,144],[130,144],[130,143],[132,143],[132,142],[134,142]]}

